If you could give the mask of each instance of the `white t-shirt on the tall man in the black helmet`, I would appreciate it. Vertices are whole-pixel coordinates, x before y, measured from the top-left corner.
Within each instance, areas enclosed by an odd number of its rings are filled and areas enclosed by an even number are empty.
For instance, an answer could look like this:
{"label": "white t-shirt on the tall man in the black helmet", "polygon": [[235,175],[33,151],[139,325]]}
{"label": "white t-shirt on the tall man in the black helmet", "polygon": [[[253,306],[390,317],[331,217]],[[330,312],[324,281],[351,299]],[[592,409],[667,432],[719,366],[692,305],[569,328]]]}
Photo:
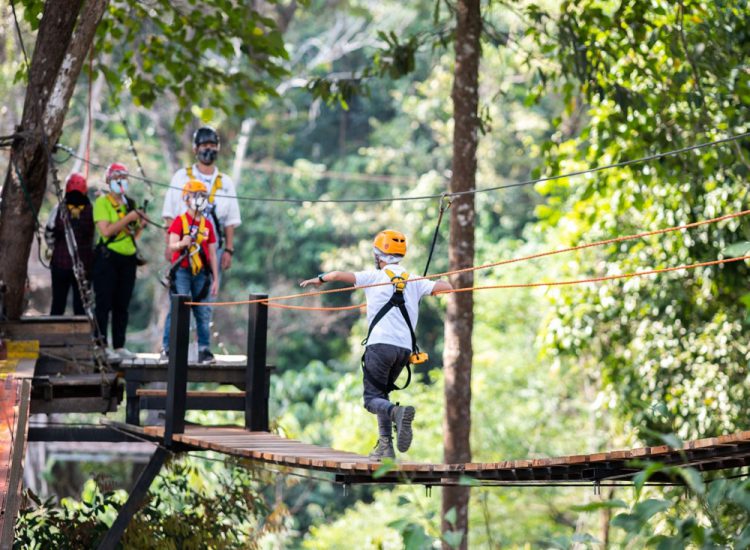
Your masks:
{"label": "white t-shirt on the tall man in the black helmet", "polygon": [[[216,176],[219,175],[219,169],[214,167],[213,174],[205,175],[198,171],[198,166],[193,165],[193,178],[203,182],[208,189],[209,194],[213,188]],[[188,182],[187,170],[181,168],[172,176],[169,182],[169,189],[164,196],[164,208],[161,215],[163,218],[176,218],[187,210],[185,201],[182,200],[182,188]],[[232,178],[226,174],[221,174],[221,189],[216,191],[214,197],[216,208],[216,218],[221,224],[221,229],[239,225],[242,221],[240,218],[240,206],[237,202],[237,190],[234,187]],[[213,221],[213,220],[212,220]]]}

